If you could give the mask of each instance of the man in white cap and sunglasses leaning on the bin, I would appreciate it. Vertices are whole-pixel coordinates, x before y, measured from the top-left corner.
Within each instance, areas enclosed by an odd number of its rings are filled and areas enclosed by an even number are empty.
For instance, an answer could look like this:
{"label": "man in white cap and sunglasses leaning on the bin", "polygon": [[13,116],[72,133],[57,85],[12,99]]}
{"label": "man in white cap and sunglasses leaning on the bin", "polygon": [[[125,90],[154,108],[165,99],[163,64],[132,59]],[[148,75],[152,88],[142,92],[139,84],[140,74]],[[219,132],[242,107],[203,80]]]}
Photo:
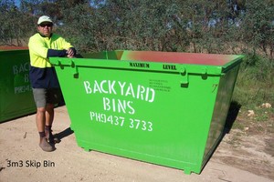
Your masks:
{"label": "man in white cap and sunglasses leaning on the bin", "polygon": [[[63,37],[52,33],[53,22],[47,15],[37,21],[37,34],[29,38],[30,83],[37,105],[37,130],[40,136],[39,147],[50,152],[58,140],[52,135],[54,106],[59,102],[61,91],[54,67],[49,63],[50,56],[73,57],[75,48]],[[58,142],[58,141],[56,141]]]}

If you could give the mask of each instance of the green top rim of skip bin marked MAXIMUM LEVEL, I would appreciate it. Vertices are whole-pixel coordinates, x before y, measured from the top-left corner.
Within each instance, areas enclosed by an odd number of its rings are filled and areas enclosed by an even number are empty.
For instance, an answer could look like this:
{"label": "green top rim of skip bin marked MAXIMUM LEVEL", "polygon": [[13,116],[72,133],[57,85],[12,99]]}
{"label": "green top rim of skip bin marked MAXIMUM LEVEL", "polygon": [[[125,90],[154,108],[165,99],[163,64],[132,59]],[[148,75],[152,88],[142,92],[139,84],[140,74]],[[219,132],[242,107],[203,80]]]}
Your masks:
{"label": "green top rim of skip bin marked MAXIMUM LEVEL", "polygon": [[[194,65],[194,64],[172,64],[177,66],[177,70],[163,70],[162,62],[148,62],[142,60],[116,60],[116,59],[100,59],[100,58],[67,58],[67,57],[49,57],[49,62],[54,66],[71,66],[77,69],[78,67],[93,67],[104,69],[121,69],[121,70],[136,70],[136,71],[149,71],[173,74],[198,74],[207,76],[221,76],[234,66],[239,64],[241,57],[235,59],[232,64],[225,66],[210,66],[210,65]],[[102,65],[105,62],[105,65]],[[153,64],[150,68],[131,67],[131,63]]]}

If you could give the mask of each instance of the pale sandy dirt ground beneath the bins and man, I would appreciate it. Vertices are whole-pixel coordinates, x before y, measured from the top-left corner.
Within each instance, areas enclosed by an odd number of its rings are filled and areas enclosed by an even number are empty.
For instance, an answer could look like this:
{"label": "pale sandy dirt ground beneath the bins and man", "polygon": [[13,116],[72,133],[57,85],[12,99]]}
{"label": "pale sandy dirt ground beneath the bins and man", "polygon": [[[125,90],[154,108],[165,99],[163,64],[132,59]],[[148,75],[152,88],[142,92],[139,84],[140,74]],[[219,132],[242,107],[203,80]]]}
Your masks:
{"label": "pale sandy dirt ground beneath the bins and man", "polygon": [[0,124],[0,181],[274,181],[274,137],[269,133],[227,131],[200,175],[78,147],[66,106],[56,109],[53,128],[61,138],[54,152],[38,147],[35,115]]}

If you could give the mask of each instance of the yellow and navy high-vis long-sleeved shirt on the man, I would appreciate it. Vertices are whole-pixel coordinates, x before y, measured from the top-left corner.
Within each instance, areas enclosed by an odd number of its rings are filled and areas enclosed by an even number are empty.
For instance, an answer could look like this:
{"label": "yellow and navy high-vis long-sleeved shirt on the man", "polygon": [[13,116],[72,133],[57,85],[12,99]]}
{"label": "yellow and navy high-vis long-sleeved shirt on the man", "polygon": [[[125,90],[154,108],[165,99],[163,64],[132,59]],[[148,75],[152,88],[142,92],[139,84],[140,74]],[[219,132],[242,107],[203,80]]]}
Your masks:
{"label": "yellow and navy high-vis long-sleeved shirt on the man", "polygon": [[53,50],[66,56],[70,47],[73,46],[60,35],[53,34],[51,37],[46,37],[37,33],[29,38],[29,79],[33,88],[59,87],[55,68],[49,63],[47,56],[50,56]]}

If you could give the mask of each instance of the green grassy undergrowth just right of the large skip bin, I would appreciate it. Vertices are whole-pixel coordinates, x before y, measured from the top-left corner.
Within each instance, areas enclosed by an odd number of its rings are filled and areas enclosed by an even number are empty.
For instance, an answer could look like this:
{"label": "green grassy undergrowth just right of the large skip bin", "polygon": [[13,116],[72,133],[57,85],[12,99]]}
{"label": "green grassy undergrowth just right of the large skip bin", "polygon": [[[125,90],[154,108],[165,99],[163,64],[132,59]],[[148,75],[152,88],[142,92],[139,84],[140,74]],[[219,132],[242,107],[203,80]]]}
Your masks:
{"label": "green grassy undergrowth just right of the large skip bin", "polygon": [[266,58],[247,55],[237,77],[233,99],[249,109],[265,102],[273,106],[273,90],[274,66]]}

